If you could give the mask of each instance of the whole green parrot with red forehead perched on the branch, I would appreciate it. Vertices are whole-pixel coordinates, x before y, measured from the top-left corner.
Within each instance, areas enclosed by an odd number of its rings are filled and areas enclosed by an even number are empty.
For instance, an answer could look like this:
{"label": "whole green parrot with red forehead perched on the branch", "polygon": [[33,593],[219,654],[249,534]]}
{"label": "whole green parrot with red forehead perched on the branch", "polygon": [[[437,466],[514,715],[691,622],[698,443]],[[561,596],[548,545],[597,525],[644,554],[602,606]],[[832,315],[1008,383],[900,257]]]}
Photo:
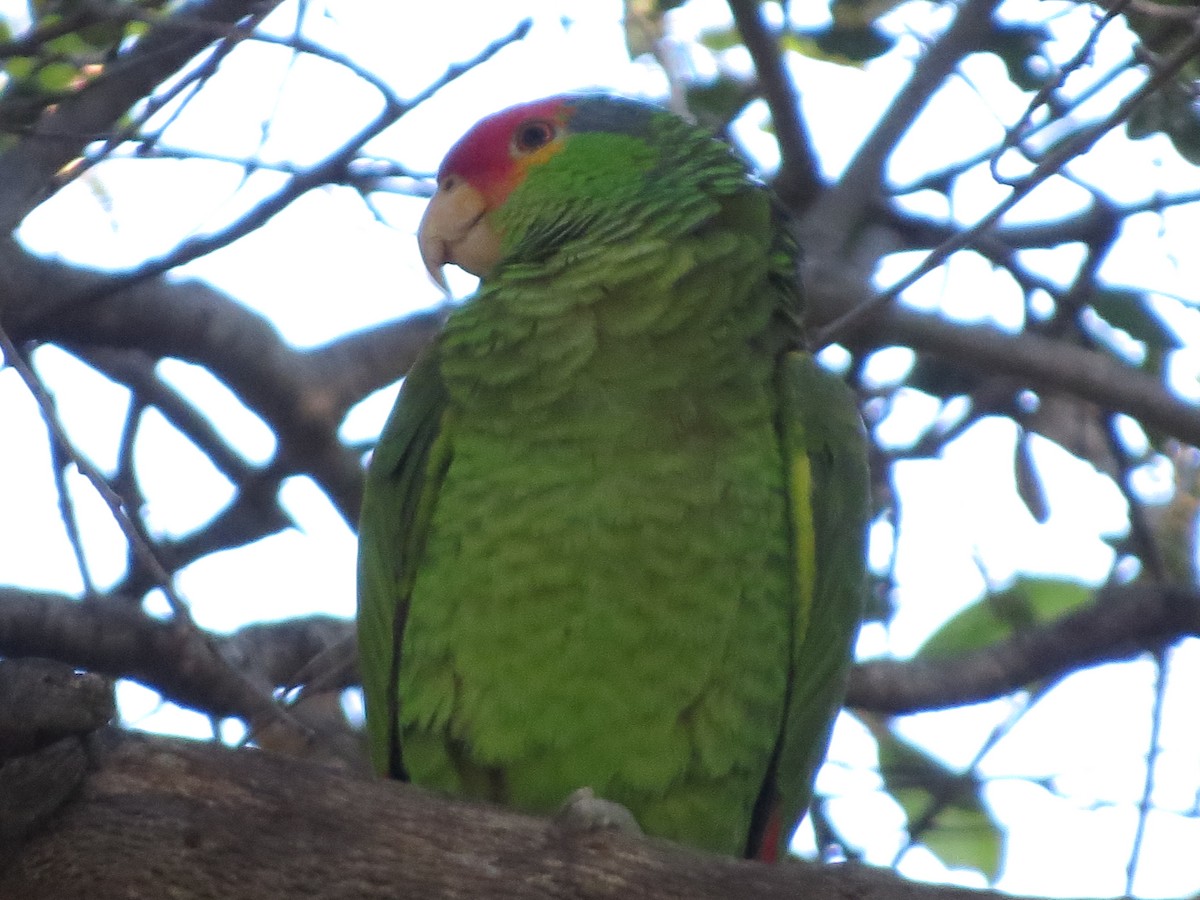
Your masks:
{"label": "whole green parrot with red forehead perched on the branch", "polygon": [[374,768],[775,858],[862,616],[865,439],[800,349],[794,247],[731,149],[558,96],[449,152],[419,241],[480,277],[371,460]]}

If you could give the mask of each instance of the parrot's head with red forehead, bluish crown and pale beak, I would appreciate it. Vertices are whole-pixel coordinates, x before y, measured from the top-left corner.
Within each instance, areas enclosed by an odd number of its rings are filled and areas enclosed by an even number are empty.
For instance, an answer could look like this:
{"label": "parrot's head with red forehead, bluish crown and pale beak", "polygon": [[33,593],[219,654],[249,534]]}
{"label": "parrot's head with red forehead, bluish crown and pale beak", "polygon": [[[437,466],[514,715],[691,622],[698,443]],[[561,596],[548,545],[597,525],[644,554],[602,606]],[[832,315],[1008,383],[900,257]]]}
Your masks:
{"label": "parrot's head with red forehead, bluish crown and pale beak", "polygon": [[664,149],[680,149],[678,130],[730,158],[666,110],[611,95],[547,97],[482,119],[438,169],[418,232],[426,269],[443,288],[448,263],[486,278],[502,262],[545,257],[619,220],[647,179],[672,168]]}

